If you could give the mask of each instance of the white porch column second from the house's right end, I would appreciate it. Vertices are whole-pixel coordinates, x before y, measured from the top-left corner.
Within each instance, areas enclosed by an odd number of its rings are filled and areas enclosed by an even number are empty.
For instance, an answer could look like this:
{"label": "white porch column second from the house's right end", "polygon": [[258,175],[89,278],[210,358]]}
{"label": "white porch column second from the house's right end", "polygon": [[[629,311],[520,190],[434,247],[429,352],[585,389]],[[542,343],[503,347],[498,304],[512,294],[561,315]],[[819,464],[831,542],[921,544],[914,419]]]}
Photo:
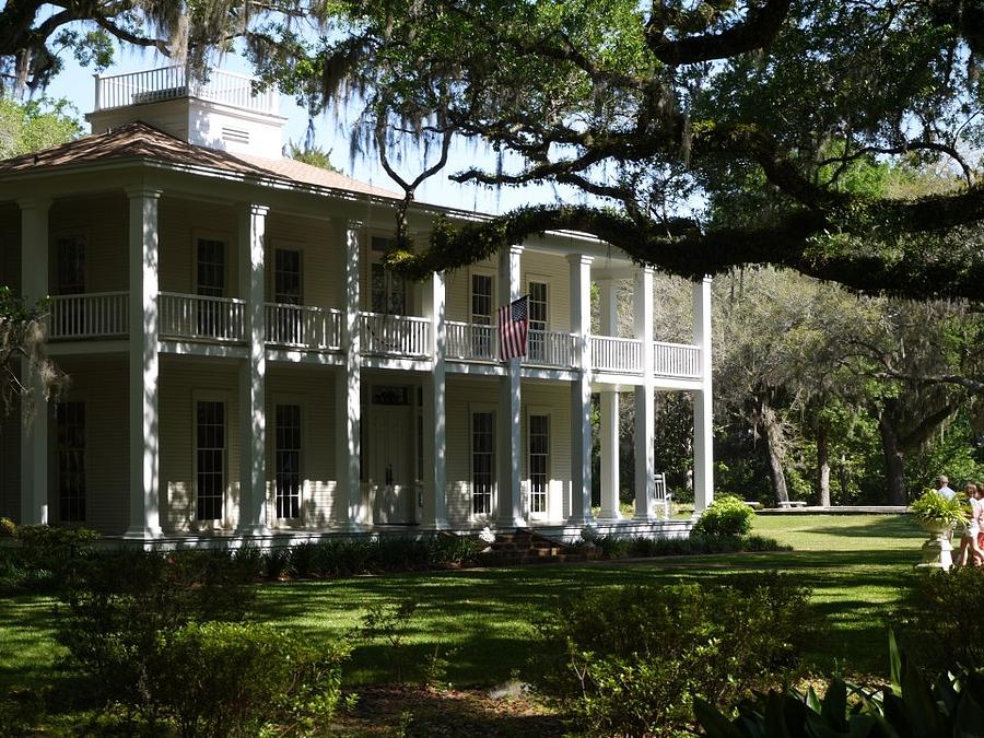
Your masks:
{"label": "white porch column second from the house's right end", "polygon": [[653,270],[635,273],[633,304],[635,338],[642,342],[643,383],[635,388],[635,520],[654,520],[653,497],[656,472],[653,442],[656,435],[656,411],[653,406],[655,380],[653,373]]}

